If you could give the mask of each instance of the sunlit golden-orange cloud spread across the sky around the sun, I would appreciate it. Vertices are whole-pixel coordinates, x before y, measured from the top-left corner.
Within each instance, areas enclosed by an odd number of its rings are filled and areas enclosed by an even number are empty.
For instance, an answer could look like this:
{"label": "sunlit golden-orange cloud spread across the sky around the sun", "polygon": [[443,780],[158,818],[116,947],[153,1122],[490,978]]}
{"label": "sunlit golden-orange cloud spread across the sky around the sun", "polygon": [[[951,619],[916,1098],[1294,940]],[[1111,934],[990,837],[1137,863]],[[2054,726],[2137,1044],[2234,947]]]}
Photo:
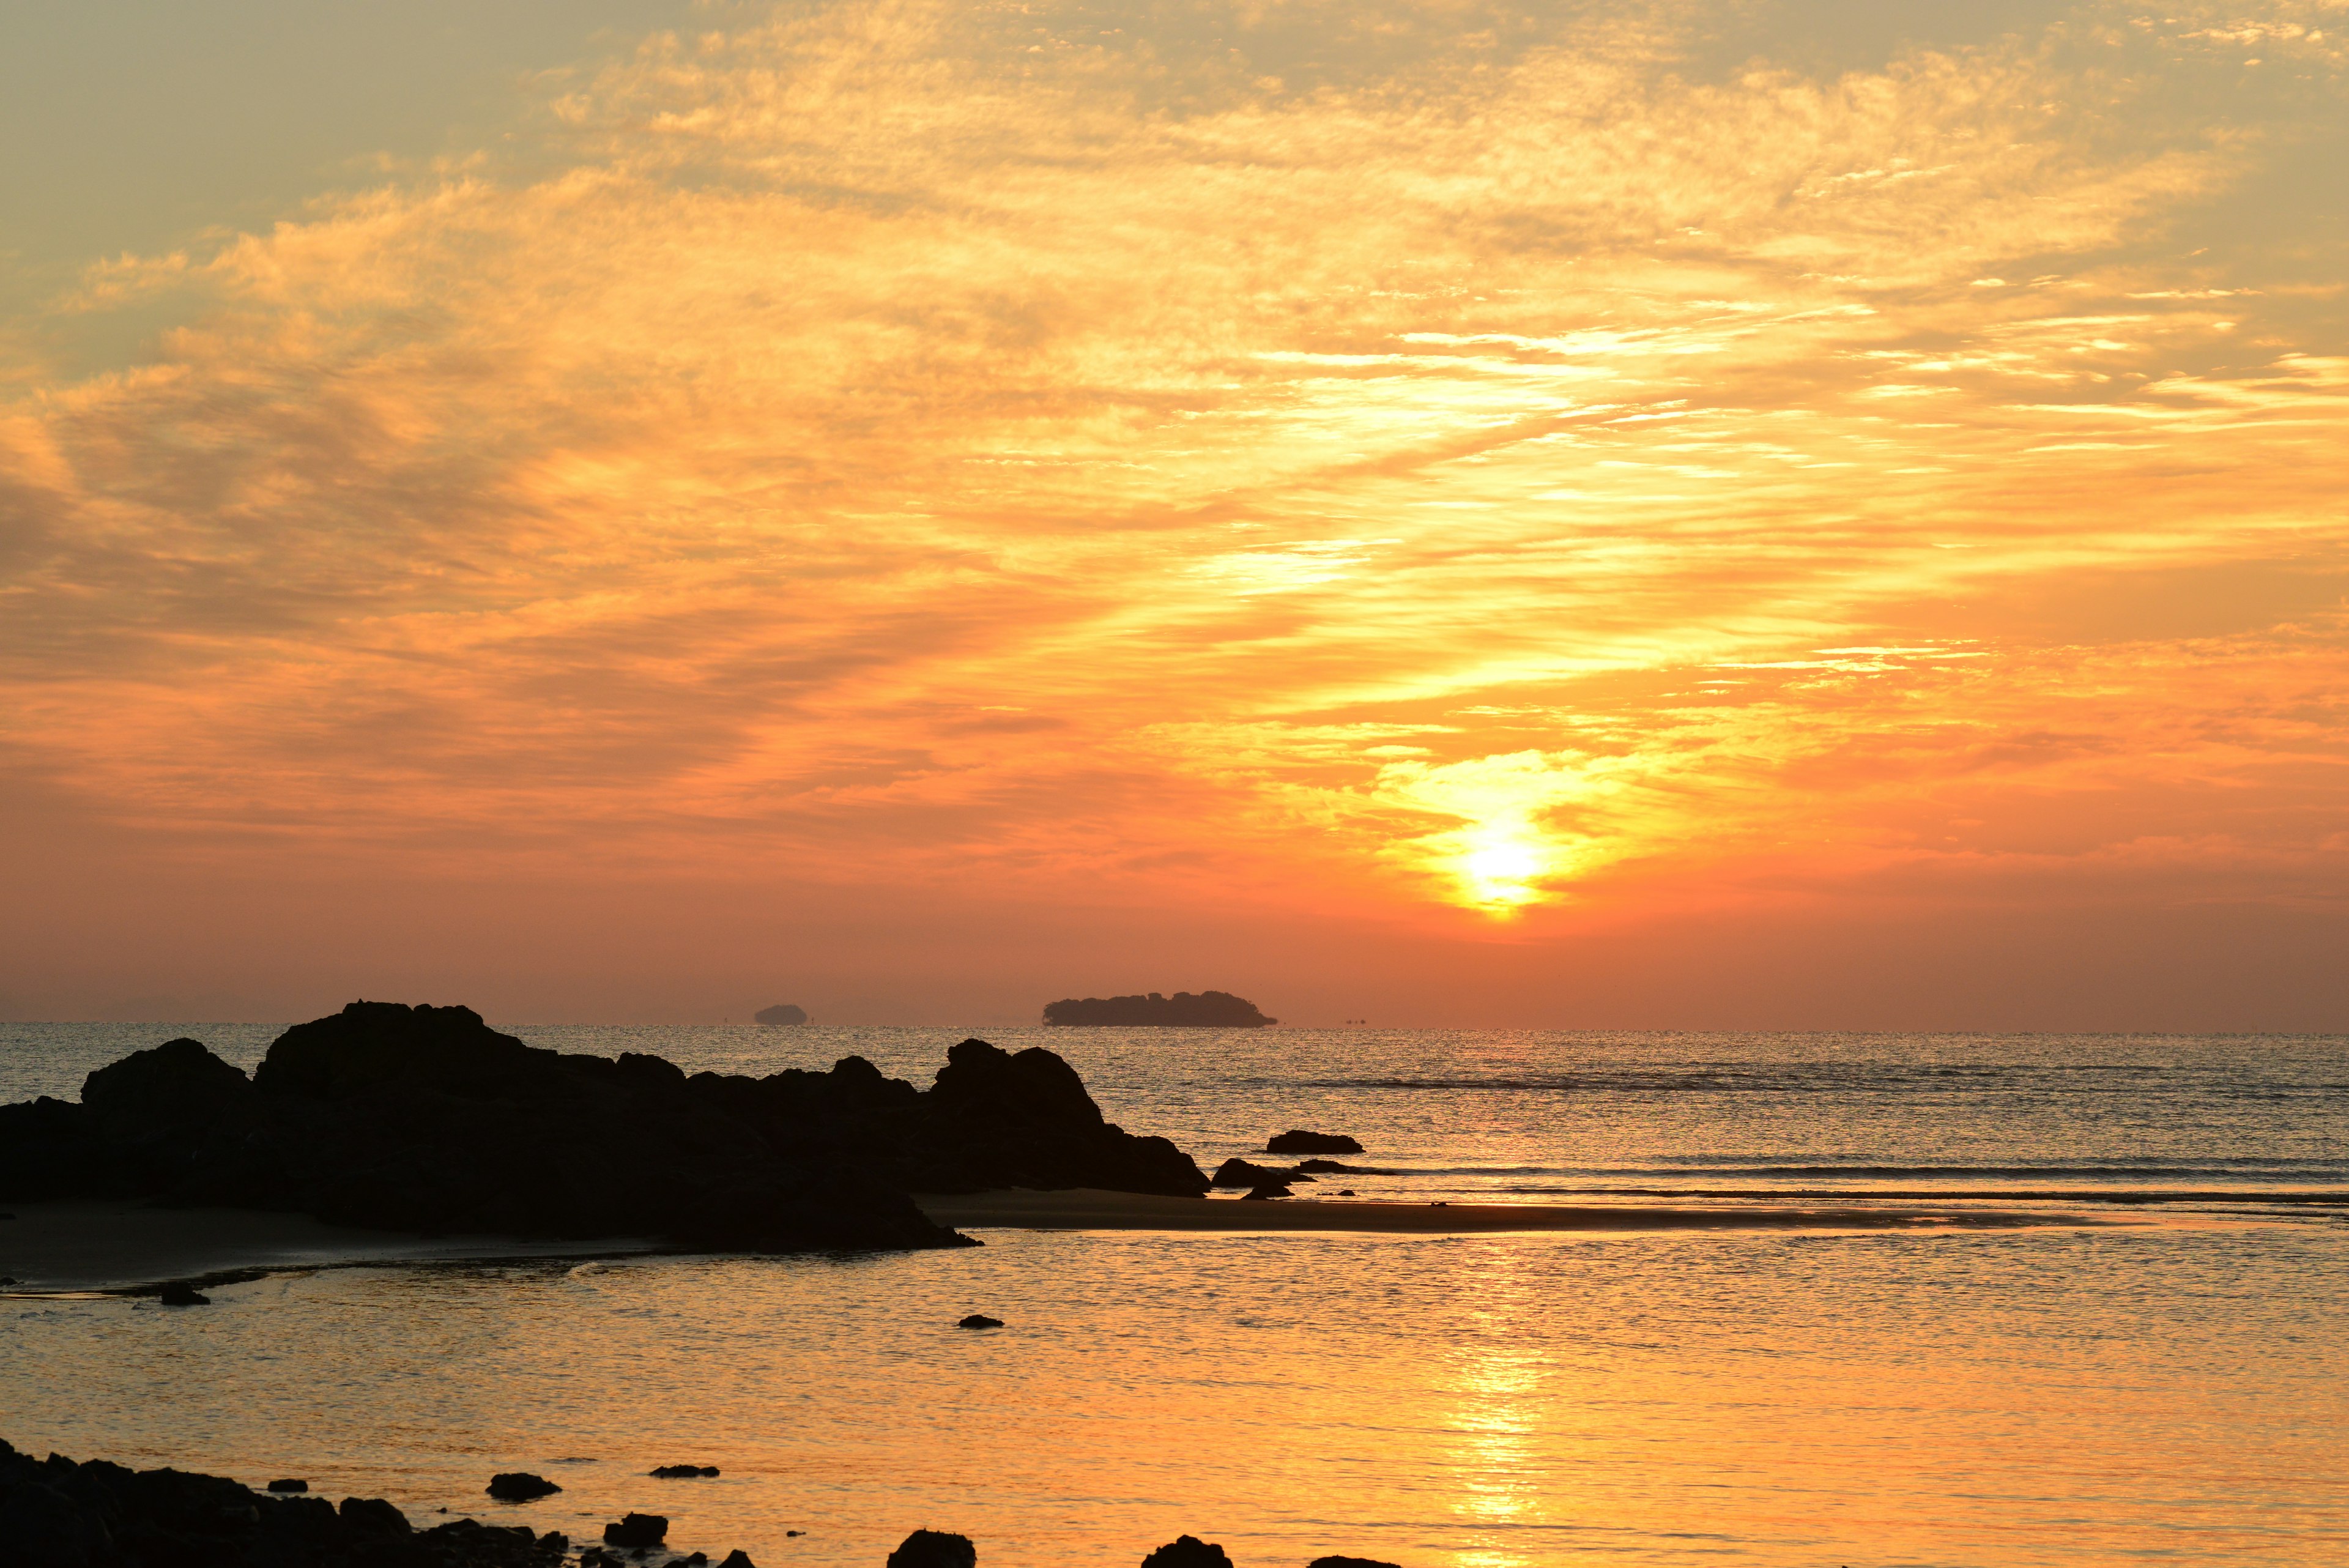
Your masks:
{"label": "sunlit golden-orange cloud spread across the sky around the sun", "polygon": [[2342,296],[2213,214],[2342,45],[2253,9],[655,38],[59,303],[190,301],[5,383],[7,748],[197,860],[2318,898]]}

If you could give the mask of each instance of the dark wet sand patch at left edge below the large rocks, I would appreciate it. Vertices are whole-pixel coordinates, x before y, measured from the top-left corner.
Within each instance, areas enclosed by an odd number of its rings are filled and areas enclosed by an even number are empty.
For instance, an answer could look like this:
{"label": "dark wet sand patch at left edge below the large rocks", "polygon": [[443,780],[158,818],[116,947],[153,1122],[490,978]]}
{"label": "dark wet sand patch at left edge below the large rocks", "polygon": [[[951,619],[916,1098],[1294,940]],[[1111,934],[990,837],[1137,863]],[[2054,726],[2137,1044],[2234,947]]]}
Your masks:
{"label": "dark wet sand patch at left edge below the large rocks", "polygon": [[660,1251],[655,1241],[521,1241],[416,1237],[327,1225],[258,1208],[153,1208],[139,1201],[9,1204],[0,1220],[0,1293],[136,1291],[167,1279],[221,1279],[357,1262],[599,1258]]}

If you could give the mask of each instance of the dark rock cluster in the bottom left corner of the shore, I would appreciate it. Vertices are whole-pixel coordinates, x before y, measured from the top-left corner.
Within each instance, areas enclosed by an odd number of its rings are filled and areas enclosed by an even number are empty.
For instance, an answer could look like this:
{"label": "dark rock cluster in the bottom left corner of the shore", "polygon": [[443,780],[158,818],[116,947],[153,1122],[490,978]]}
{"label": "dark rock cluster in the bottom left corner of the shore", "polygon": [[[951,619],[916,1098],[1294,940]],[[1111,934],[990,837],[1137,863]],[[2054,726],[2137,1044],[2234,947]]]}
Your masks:
{"label": "dark rock cluster in the bottom left corner of the shore", "polygon": [[472,1519],[416,1530],[381,1497],[272,1497],[179,1469],[35,1460],[0,1441],[9,1568],[554,1568],[568,1544]]}

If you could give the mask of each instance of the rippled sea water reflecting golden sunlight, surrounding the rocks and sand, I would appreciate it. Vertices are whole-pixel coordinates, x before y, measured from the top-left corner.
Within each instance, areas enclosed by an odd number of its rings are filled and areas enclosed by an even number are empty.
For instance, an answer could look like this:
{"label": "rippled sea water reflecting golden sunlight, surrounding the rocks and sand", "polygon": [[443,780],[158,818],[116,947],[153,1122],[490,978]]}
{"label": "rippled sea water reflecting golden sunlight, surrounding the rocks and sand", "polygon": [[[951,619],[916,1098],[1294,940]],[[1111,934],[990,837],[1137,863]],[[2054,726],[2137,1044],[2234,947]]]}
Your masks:
{"label": "rippled sea water reflecting golden sunlight, surrounding the rocks and sand", "polygon": [[[855,1051],[916,1081],[958,1039],[505,1027],[740,1072]],[[0,1098],[70,1095],[176,1032],[247,1065],[275,1034],[0,1025]],[[1177,1533],[1240,1568],[2349,1561],[2344,1039],[989,1037],[1062,1051],[1203,1166],[1285,1126],[1355,1133],[1395,1171],[1346,1178],[1362,1197],[1968,1194],[2123,1222],[982,1232],[900,1258],[334,1269],[209,1312],[7,1300],[0,1436],[576,1535],[651,1509],[679,1549],[768,1568],[879,1566],[916,1526],[998,1566],[1139,1563]],[[2161,1194],[2203,1197],[2133,1201]],[[975,1309],[1010,1326],[951,1328]],[[644,1476],[684,1460],[726,1474]],[[566,1490],[486,1505],[514,1467]]]}

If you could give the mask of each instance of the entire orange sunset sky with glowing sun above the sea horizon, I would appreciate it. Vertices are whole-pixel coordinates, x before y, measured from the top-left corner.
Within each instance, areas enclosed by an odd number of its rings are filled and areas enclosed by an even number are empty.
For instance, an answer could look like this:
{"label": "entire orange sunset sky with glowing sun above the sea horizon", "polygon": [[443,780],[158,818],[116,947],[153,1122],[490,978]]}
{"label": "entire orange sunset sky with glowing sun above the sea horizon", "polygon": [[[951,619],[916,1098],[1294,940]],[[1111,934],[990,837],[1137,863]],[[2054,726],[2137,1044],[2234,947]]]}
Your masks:
{"label": "entire orange sunset sky with glowing sun above the sea horizon", "polygon": [[12,5],[0,1016],[2349,1030],[2344,63]]}

